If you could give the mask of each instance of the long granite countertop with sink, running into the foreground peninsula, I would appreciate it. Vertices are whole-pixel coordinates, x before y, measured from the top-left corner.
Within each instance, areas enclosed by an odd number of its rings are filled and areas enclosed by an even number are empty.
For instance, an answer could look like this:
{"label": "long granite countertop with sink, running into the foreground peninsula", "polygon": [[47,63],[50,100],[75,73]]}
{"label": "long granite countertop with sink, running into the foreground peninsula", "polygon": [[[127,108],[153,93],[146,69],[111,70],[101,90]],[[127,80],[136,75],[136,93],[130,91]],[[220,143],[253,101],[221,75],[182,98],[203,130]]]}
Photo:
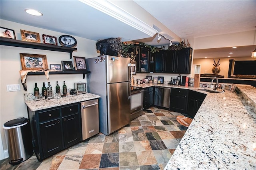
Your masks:
{"label": "long granite countertop with sink, running into the foreground peninsula", "polygon": [[[153,85],[156,84],[135,86]],[[207,96],[165,170],[256,169],[256,88],[251,85],[236,87],[240,95],[232,91],[200,91]],[[198,91],[194,87],[188,89]]]}

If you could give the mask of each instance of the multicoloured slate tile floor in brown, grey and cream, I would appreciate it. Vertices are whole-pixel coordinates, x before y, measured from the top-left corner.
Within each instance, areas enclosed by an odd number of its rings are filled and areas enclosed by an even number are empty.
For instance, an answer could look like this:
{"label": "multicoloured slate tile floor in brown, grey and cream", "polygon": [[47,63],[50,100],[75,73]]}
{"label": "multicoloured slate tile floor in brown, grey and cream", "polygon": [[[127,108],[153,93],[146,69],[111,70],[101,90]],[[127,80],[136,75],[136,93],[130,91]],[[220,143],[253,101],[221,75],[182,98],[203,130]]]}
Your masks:
{"label": "multicoloured slate tile floor in brown, grey and cream", "polygon": [[97,134],[42,162],[36,156],[16,166],[1,160],[0,169],[163,170],[187,129],[176,121],[178,115],[151,107],[109,136]]}

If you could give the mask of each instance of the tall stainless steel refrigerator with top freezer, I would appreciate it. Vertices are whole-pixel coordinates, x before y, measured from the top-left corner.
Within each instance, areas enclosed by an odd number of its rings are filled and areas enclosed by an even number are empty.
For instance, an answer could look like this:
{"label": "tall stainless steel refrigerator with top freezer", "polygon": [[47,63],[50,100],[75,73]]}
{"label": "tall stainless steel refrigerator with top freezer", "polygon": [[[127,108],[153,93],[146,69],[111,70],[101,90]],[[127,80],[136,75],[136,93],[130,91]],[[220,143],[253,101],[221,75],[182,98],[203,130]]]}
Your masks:
{"label": "tall stainless steel refrigerator with top freezer", "polygon": [[[105,135],[130,123],[130,58],[104,55],[86,59],[87,91],[100,95],[100,132]],[[95,121],[95,120],[92,120]]]}

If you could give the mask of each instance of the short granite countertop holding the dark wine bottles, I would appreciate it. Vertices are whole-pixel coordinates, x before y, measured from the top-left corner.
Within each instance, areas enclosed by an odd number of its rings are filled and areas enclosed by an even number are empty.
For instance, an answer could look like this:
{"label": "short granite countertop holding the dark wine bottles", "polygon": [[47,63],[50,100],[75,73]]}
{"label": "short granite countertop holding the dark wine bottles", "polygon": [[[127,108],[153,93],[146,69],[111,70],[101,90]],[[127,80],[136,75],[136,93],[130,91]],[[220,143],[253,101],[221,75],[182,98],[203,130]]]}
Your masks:
{"label": "short granite countertop holding the dark wine bottles", "polygon": [[71,103],[77,103],[82,101],[88,101],[91,99],[100,98],[99,95],[94,95],[92,93],[85,93],[80,95],[70,95],[69,97],[61,97],[60,99],[45,99],[40,101],[29,100],[25,101],[26,105],[31,111],[38,111],[42,109],[48,109],[52,107],[68,105]]}

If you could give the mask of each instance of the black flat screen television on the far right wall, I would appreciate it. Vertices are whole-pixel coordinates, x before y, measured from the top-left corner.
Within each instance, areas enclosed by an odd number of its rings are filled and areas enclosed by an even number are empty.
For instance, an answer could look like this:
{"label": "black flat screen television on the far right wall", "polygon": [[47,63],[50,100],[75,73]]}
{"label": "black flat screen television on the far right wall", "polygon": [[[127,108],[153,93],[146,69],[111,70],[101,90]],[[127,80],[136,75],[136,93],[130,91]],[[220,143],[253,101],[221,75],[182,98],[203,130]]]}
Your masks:
{"label": "black flat screen television on the far right wall", "polygon": [[255,61],[235,61],[234,75],[256,75],[256,60]]}

